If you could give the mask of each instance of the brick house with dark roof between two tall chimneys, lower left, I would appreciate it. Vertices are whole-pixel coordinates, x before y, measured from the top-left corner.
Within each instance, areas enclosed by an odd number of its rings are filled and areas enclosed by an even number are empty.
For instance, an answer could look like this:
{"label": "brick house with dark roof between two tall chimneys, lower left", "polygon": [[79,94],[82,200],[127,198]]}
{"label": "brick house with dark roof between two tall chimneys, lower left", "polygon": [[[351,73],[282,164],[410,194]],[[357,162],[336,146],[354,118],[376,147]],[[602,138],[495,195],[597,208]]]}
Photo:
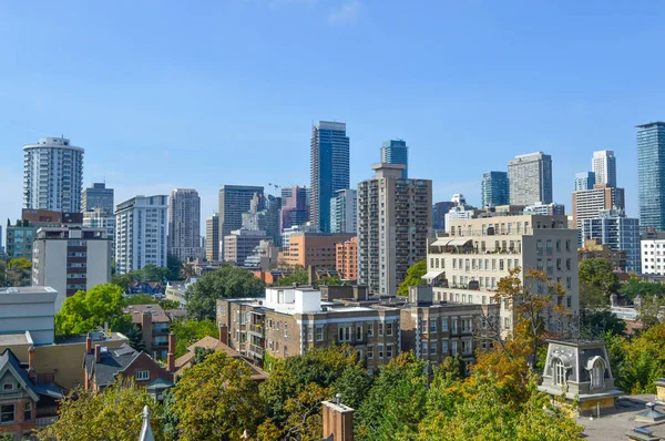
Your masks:
{"label": "brick house with dark roof between two tall chimneys, lower left", "polygon": [[123,343],[119,348],[95,345],[89,337],[83,357],[84,384],[88,390],[101,391],[114,384],[119,377],[133,378],[137,386],[155,392],[158,398],[173,386],[175,371],[175,337],[168,336],[168,356],[166,369],[162,368],[145,352],[139,352]]}

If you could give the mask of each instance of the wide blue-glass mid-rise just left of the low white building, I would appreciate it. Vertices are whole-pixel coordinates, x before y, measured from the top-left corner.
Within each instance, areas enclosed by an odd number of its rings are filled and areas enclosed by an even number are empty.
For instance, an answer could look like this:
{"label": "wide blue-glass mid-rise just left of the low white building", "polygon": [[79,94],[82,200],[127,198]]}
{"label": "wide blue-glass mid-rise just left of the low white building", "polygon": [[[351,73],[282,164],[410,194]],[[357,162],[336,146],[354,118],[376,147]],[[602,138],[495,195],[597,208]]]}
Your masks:
{"label": "wide blue-glass mid-rise just left of the low white building", "polygon": [[626,270],[641,273],[640,219],[626,217],[623,209],[602,209],[597,216],[583,219],[581,229],[585,240],[598,239],[612,249],[626,252]]}

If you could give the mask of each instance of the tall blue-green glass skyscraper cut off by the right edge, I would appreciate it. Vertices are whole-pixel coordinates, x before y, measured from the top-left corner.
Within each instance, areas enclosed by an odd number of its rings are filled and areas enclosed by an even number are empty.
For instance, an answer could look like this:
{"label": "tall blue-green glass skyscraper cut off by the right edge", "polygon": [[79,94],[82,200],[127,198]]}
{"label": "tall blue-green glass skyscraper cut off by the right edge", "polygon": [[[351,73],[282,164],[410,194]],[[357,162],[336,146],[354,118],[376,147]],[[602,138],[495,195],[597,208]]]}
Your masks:
{"label": "tall blue-green glass skyscraper cut off by the right edge", "polygon": [[665,230],[665,123],[637,126],[637,181],[643,228]]}

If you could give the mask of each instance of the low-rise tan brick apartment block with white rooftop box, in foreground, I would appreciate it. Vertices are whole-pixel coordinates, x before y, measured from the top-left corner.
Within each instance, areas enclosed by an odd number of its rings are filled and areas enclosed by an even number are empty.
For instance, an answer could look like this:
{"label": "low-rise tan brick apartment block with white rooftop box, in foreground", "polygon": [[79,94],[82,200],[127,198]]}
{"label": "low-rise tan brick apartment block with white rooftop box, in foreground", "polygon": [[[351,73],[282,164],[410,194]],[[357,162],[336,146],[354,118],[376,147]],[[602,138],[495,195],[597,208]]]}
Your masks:
{"label": "low-rise tan brick apartment block with white rooftop box, in foreground", "polygon": [[[367,300],[360,287],[356,302]],[[266,288],[264,298],[217,300],[217,325],[228,330],[228,346],[255,362],[266,355],[286,358],[314,349],[349,345],[375,371],[400,352],[399,309],[321,301],[310,287]]]}

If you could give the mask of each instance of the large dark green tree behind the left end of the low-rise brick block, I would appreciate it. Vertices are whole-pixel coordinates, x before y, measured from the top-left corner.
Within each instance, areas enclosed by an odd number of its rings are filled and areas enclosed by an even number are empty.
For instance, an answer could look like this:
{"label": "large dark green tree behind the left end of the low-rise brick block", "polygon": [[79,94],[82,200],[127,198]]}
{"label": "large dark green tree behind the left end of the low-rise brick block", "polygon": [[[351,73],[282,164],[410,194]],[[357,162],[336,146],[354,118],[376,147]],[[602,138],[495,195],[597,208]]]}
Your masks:
{"label": "large dark green tree behind the left end of the low-rise brick block", "polygon": [[185,291],[187,316],[195,320],[215,319],[216,300],[222,298],[256,297],[265,284],[250,271],[235,266],[223,266],[196,280]]}

